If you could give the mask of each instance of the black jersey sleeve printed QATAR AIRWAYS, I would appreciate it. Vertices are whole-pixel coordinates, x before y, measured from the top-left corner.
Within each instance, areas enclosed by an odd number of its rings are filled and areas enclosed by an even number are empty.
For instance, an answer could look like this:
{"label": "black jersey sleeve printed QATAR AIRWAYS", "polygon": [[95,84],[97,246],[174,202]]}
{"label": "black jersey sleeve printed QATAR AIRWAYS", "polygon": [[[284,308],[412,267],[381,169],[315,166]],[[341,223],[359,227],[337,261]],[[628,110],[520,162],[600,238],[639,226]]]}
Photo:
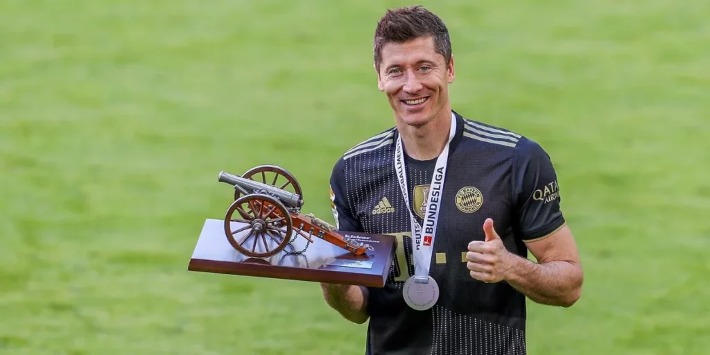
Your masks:
{"label": "black jersey sleeve printed QATAR AIRWAYS", "polygon": [[520,238],[540,239],[564,224],[557,173],[550,155],[525,137],[515,147],[513,199]]}

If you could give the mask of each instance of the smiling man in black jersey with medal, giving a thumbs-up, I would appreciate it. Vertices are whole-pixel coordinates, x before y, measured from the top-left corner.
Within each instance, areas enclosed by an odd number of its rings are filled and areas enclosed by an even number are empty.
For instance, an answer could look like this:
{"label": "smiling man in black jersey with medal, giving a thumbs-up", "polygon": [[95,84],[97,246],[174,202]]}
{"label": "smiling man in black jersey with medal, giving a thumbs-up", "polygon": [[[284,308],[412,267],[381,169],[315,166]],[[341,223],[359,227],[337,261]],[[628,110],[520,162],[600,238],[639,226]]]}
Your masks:
{"label": "smiling man in black jersey with medal, giving a thumbs-up", "polygon": [[394,235],[396,259],[384,288],[322,284],[325,300],[369,320],[366,354],[525,354],[525,297],[569,307],[583,279],[549,155],[452,111],[430,11],[388,11],[374,62],[395,126],[337,161],[331,200],[338,229]]}

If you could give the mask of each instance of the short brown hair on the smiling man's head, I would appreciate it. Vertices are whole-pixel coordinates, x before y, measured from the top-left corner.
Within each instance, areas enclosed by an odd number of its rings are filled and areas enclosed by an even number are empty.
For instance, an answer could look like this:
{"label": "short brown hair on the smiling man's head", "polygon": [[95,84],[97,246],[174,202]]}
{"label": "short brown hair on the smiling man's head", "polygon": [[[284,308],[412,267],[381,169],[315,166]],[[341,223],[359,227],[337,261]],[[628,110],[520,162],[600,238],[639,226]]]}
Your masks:
{"label": "short brown hair on the smiling man's head", "polygon": [[381,52],[386,43],[403,43],[420,37],[433,37],[437,53],[451,61],[449,30],[439,16],[423,6],[400,7],[388,10],[377,23],[373,45],[376,70],[380,70]]}

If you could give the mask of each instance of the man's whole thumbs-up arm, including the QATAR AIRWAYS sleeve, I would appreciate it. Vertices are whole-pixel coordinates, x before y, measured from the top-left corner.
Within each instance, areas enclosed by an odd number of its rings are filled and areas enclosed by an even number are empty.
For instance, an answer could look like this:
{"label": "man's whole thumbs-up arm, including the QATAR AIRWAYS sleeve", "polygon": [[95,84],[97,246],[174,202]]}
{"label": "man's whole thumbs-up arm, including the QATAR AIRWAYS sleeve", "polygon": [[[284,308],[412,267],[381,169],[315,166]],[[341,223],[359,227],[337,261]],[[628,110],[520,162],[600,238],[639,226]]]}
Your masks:
{"label": "man's whole thumbs-up arm, including the QATAR AIRWAYS sleeve", "polygon": [[559,207],[557,175],[550,156],[534,141],[522,138],[515,148],[513,201],[518,238],[537,263],[510,253],[493,220],[484,222],[485,241],[472,241],[466,258],[471,277],[506,281],[531,300],[569,307],[581,297],[584,279],[579,251]]}

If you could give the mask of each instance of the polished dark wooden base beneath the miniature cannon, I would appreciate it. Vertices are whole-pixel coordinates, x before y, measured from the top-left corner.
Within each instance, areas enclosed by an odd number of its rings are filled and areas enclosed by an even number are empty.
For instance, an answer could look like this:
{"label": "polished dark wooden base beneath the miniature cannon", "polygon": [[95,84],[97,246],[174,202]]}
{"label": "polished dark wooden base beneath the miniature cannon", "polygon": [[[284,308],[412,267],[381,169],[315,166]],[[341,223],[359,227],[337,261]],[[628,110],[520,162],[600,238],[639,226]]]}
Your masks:
{"label": "polished dark wooden base beneath the miniature cannon", "polygon": [[[232,222],[236,224],[236,222]],[[313,243],[294,232],[295,240],[268,258],[250,258],[236,251],[224,234],[224,221],[207,219],[187,267],[189,271],[280,278],[320,283],[340,283],[382,288],[395,254],[393,236],[340,232],[343,236],[369,244],[374,250],[354,255],[338,246],[312,236]],[[250,237],[250,239],[253,237]],[[246,241],[252,246],[253,241]],[[275,248],[273,246],[271,249]],[[263,251],[257,244],[256,250]],[[300,251],[304,252],[299,253]]]}

